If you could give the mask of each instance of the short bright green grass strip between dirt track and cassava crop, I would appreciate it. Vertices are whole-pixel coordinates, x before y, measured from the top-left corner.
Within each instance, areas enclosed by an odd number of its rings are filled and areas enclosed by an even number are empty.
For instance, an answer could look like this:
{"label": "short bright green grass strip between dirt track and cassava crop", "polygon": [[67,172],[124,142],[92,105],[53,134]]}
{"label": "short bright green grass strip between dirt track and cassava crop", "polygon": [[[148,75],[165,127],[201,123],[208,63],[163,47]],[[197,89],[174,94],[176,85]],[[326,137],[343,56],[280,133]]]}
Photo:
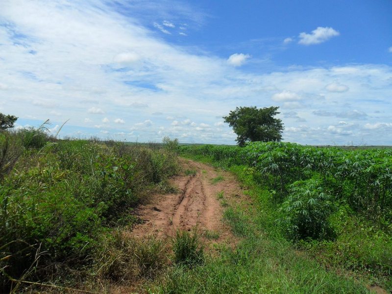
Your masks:
{"label": "short bright green grass strip between dirt track and cassava crop", "polygon": [[[218,256],[207,255],[203,265],[169,268],[151,288],[154,293],[369,293],[360,276],[326,268],[299,251],[276,228],[270,193],[254,184],[245,167],[230,171],[254,202],[231,204],[223,214],[241,241],[234,249],[220,247]],[[218,197],[223,198],[223,193]]]}

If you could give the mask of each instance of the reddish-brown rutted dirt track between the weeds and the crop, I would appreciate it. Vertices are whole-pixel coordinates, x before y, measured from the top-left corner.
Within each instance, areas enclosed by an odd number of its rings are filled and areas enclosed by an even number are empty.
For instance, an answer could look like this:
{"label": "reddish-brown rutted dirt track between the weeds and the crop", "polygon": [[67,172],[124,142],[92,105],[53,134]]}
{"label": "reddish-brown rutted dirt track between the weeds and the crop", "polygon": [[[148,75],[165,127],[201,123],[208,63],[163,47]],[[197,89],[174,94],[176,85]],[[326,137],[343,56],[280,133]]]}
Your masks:
{"label": "reddish-brown rutted dirt track between the weeds and the crop", "polygon": [[[231,234],[222,222],[222,200],[217,195],[223,191],[225,199],[238,196],[241,191],[237,181],[231,174],[217,172],[210,166],[185,159],[180,162],[183,175],[172,179],[179,192],[153,196],[148,204],[142,205],[137,211],[142,223],[134,227],[133,235],[172,236],[177,228],[191,230],[197,224],[201,232],[218,233],[217,242],[227,240]],[[194,174],[186,175],[186,171]],[[214,182],[218,176],[221,181]]]}

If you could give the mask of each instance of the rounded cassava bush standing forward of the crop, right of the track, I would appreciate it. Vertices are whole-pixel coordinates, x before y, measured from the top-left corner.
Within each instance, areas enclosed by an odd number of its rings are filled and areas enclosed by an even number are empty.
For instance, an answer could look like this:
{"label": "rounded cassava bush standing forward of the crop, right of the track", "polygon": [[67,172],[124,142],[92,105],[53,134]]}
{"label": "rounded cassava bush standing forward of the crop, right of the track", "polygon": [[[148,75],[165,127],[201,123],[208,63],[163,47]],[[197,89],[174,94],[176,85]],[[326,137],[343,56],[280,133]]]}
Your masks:
{"label": "rounded cassava bush standing forward of the crop, right of the track", "polygon": [[317,179],[296,181],[290,186],[290,196],[282,203],[284,217],[279,222],[288,236],[298,239],[325,239],[333,235],[328,218],[333,211],[331,196]]}

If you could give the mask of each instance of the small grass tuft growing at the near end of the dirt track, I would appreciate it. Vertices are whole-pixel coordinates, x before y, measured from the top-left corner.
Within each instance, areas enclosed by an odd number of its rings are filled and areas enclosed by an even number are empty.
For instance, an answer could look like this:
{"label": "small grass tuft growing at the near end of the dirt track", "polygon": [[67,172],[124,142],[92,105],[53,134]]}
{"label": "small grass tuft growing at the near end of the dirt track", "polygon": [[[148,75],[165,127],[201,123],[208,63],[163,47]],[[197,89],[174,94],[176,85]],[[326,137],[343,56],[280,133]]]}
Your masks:
{"label": "small grass tuft growing at the near end of the dirt track", "polygon": [[174,263],[191,268],[204,263],[204,245],[200,243],[196,229],[192,233],[177,230],[172,245]]}

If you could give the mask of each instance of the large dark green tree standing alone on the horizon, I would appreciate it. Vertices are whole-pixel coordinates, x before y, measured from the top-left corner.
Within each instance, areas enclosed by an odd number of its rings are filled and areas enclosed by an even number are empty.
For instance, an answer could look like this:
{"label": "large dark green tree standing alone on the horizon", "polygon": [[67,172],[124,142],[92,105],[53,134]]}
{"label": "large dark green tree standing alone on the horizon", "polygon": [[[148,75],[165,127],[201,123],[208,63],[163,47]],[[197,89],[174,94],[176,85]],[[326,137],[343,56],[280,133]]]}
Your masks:
{"label": "large dark green tree standing alone on the horizon", "polygon": [[284,126],[280,119],[274,117],[280,113],[278,108],[236,107],[223,119],[237,134],[236,141],[240,146],[249,141],[280,141]]}

